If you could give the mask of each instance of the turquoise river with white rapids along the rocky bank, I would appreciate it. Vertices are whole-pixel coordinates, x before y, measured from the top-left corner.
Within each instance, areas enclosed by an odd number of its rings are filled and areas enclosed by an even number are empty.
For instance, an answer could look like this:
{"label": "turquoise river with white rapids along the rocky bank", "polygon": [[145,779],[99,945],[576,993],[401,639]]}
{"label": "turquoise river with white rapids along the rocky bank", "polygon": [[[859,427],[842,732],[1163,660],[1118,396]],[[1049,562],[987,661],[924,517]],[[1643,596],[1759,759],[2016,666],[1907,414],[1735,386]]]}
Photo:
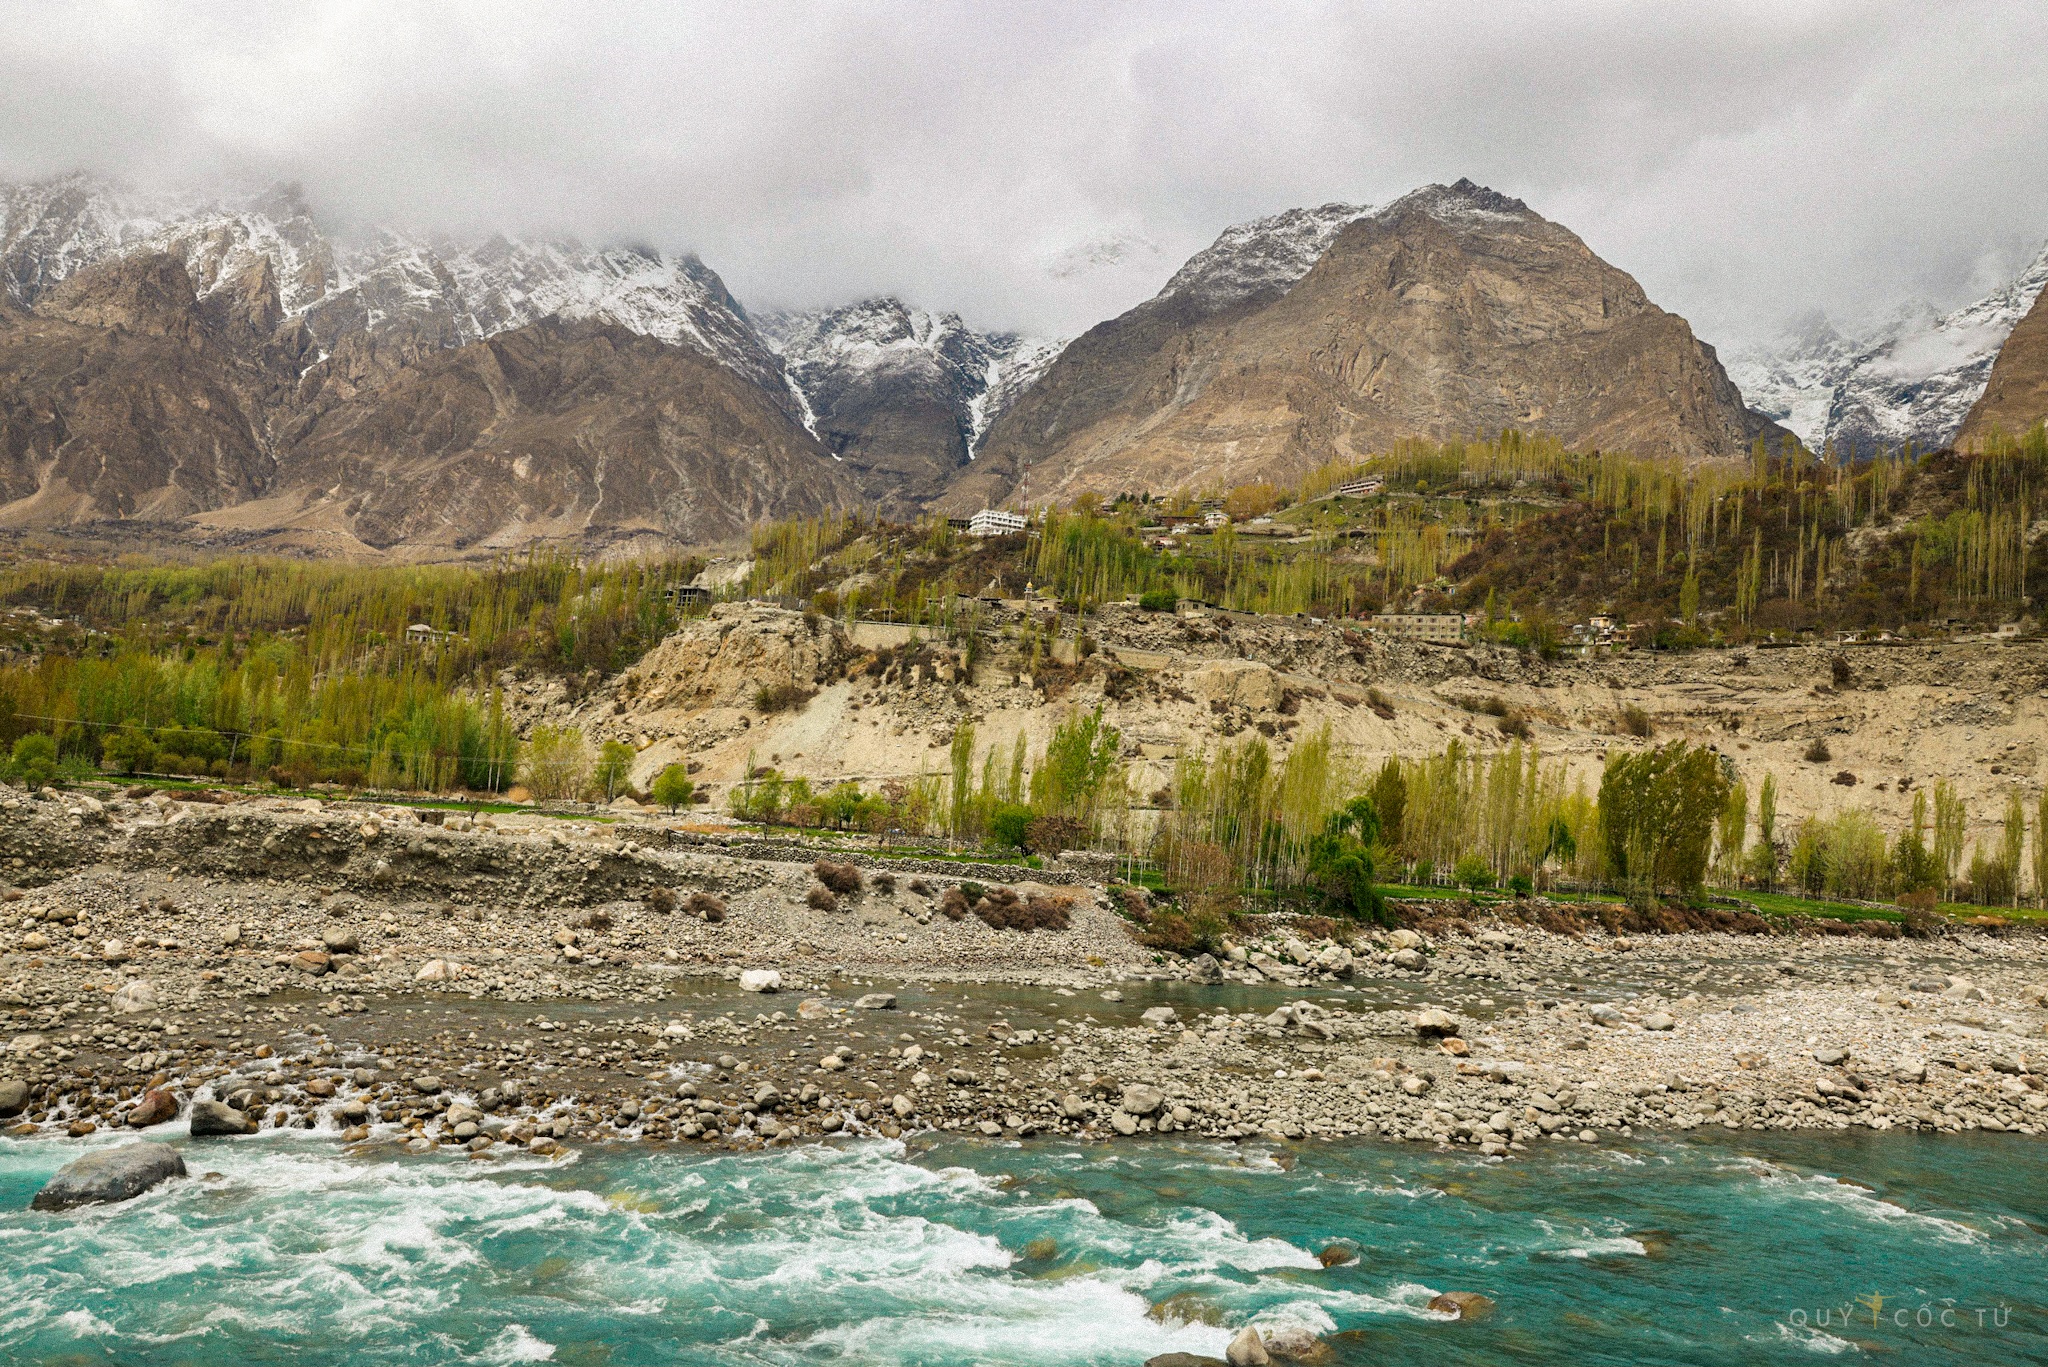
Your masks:
{"label": "turquoise river with white rapids along the rocky bank", "polygon": [[[90,1144],[90,1142],[88,1142]],[[1114,1363],[1305,1324],[1333,1363],[2048,1363],[2048,1148],[848,1142],[352,1158],[188,1144],[61,1215],[0,1140],[0,1361]],[[1331,1244],[1356,1258],[1325,1269]],[[1481,1291],[1481,1320],[1425,1310]]]}

